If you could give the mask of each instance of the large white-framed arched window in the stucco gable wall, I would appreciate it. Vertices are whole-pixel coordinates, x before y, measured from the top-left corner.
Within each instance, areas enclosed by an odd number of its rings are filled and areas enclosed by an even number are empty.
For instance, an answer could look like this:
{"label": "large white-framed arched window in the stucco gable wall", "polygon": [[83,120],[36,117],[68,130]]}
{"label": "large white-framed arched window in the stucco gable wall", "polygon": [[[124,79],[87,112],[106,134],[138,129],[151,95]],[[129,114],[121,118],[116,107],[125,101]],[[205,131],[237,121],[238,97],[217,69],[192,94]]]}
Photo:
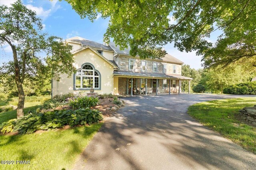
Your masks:
{"label": "large white-framed arched window in the stucco gable wall", "polygon": [[75,76],[76,88],[100,88],[100,73],[91,64],[83,64]]}

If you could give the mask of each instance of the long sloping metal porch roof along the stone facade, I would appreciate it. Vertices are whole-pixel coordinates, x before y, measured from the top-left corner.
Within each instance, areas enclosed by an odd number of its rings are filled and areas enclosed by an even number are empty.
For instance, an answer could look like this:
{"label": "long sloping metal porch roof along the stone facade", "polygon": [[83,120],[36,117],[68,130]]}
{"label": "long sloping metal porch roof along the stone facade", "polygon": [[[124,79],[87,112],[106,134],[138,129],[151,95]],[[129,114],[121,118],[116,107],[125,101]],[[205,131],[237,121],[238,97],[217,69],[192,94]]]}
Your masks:
{"label": "long sloping metal porch roof along the stone facade", "polygon": [[166,79],[177,79],[177,80],[193,80],[193,78],[185,77],[177,74],[164,74],[164,73],[148,73],[148,72],[132,72],[132,71],[114,71],[114,76],[123,77],[140,77],[140,78],[166,78]]}

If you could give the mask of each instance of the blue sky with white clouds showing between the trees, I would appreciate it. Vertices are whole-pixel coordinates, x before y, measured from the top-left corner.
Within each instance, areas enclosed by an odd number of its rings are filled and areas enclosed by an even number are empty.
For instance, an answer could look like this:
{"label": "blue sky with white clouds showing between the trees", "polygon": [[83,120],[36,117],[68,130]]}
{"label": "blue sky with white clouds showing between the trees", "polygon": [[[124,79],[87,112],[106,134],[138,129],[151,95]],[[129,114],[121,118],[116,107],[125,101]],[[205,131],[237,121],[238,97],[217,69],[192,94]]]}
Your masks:
{"label": "blue sky with white clouds showing between the trees", "polygon": [[[15,0],[0,0],[0,5],[10,6]],[[92,23],[90,20],[81,19],[70,4],[65,1],[50,0],[23,0],[24,4],[36,11],[37,16],[42,19],[44,31],[50,35],[56,35],[63,39],[80,36],[98,43],[103,42],[103,35],[108,27],[108,20],[97,17]],[[208,39],[212,41],[212,39]],[[201,57],[195,52],[180,52],[174,48],[173,44],[165,45],[167,53],[180,59],[192,68],[202,68]],[[12,59],[10,47],[6,44],[0,49],[0,63]]]}

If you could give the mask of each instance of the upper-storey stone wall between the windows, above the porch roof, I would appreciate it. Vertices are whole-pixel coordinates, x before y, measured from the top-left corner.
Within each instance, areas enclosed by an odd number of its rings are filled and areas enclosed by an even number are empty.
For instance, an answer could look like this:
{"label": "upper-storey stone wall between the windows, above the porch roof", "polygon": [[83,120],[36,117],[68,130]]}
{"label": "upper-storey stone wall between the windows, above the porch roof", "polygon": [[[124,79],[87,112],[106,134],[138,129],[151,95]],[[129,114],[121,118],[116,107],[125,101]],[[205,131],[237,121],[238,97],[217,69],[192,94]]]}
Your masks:
{"label": "upper-storey stone wall between the windows, above the porch roof", "polygon": [[[129,59],[134,60],[134,69],[129,70]],[[141,61],[146,61],[146,70],[141,70]],[[157,73],[163,73],[164,64],[167,65],[166,74],[178,74],[181,75],[181,64],[173,64],[173,63],[165,63],[160,61],[152,61],[152,60],[141,60],[139,58],[132,57],[118,57],[118,64],[120,70],[125,71],[134,71],[134,72],[153,72],[153,63],[157,63]],[[173,73],[173,65],[176,65],[176,73]]]}

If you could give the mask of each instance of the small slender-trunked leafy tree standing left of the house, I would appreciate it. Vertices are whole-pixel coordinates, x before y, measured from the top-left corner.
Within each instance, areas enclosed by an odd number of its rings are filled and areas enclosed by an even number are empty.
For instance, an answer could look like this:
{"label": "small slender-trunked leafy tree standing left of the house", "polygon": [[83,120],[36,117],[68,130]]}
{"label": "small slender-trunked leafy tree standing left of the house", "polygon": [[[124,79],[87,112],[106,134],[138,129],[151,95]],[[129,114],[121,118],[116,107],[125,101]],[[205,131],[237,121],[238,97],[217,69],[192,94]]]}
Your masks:
{"label": "small slender-trunked leafy tree standing left of the house", "polygon": [[[44,80],[46,76],[71,75],[72,46],[63,43],[60,37],[42,33],[41,19],[36,12],[26,8],[21,0],[12,6],[0,6],[0,45],[8,43],[13,60],[3,63],[0,76],[12,75],[18,89],[17,117],[23,116],[25,79]],[[45,57],[44,57],[45,56]]]}

